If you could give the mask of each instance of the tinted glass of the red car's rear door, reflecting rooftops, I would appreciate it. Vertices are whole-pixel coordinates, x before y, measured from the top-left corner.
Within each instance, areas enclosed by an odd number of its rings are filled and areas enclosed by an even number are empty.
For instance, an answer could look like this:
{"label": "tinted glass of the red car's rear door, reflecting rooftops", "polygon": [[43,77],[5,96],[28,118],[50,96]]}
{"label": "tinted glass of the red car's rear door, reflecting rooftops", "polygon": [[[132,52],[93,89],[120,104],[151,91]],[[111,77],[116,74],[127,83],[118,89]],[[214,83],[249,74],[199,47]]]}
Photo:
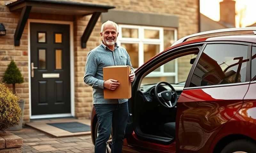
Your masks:
{"label": "tinted glass of the red car's rear door, reflecting rooftops", "polygon": [[245,82],[247,48],[246,45],[207,44],[190,87]]}

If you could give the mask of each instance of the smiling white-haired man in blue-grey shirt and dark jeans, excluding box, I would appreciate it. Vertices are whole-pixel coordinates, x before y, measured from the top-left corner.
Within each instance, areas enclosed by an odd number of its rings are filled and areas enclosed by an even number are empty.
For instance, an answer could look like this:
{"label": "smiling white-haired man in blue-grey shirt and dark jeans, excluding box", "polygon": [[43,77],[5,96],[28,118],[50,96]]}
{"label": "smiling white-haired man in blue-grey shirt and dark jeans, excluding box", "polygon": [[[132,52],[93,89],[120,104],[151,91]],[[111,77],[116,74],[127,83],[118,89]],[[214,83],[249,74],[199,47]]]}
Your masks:
{"label": "smiling white-haired man in blue-grey shirt and dark jeans, excluding box", "polygon": [[117,46],[118,25],[107,21],[101,26],[102,43],[92,49],[87,55],[84,82],[93,88],[93,105],[98,118],[99,135],[95,142],[95,153],[106,152],[106,142],[113,130],[112,153],[121,153],[123,139],[128,119],[128,99],[104,99],[103,89],[115,90],[118,88],[118,80],[103,80],[103,67],[114,65],[129,65],[131,82],[134,80],[130,56],[127,51]]}

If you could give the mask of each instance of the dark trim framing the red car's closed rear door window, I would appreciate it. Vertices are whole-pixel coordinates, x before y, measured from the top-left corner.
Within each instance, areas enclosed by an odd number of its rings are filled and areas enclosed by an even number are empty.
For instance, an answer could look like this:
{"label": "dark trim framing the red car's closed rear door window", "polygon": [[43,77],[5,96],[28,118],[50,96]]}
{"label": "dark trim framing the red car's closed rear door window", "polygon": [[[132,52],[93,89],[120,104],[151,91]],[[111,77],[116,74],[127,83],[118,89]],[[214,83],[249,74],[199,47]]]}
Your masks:
{"label": "dark trim framing the red car's closed rear door window", "polygon": [[[196,64],[198,63],[199,61],[199,58],[201,57],[205,47],[207,44],[233,44],[233,45],[246,45],[247,46],[247,58],[248,58],[248,55],[250,54],[250,47],[249,46],[252,46],[252,43],[249,43],[249,42],[241,42],[241,41],[210,41],[210,42],[205,42],[204,43],[204,46],[203,48],[200,50],[199,52],[199,56],[198,57],[198,60],[196,59],[195,62]],[[251,55],[251,54],[250,54]],[[248,65],[250,64],[249,62],[251,61],[250,60],[251,58],[249,58],[249,61],[246,63],[246,66],[248,67]],[[195,64],[194,62],[194,64]],[[248,68],[246,67],[246,77],[245,77],[245,82],[241,82],[241,83],[230,83],[230,84],[218,84],[218,85],[207,85],[207,86],[198,86],[198,87],[189,87],[189,84],[191,82],[191,79],[192,79],[192,75],[194,74],[194,71],[195,71],[195,68],[196,68],[196,64],[195,64],[195,67],[193,68],[193,71],[190,71],[189,73],[189,81],[187,80],[186,84],[185,84],[185,87],[184,87],[184,90],[189,90],[189,89],[202,89],[202,88],[210,88],[210,87],[223,87],[223,86],[233,86],[233,85],[240,85],[240,84],[249,84],[250,83],[250,80],[248,80],[248,73],[250,73],[250,69],[248,70]],[[250,66],[249,66],[250,67]],[[192,70],[191,68],[191,70]],[[249,72],[248,72],[249,71]],[[190,76],[191,75],[191,76]]]}

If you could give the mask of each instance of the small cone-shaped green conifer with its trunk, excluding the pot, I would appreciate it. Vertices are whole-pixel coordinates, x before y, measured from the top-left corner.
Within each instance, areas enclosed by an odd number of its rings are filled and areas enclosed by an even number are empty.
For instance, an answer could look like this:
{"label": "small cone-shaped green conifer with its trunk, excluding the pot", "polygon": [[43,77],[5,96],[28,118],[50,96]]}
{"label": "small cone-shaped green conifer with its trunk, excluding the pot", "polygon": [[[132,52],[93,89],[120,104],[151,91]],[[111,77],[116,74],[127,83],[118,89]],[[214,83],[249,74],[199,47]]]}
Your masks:
{"label": "small cone-shaped green conifer with its trunk, excluding the pot", "polygon": [[15,84],[21,84],[24,82],[21,76],[20,70],[14,61],[11,61],[8,65],[6,71],[4,72],[3,82],[7,84],[12,84],[12,93],[15,94]]}

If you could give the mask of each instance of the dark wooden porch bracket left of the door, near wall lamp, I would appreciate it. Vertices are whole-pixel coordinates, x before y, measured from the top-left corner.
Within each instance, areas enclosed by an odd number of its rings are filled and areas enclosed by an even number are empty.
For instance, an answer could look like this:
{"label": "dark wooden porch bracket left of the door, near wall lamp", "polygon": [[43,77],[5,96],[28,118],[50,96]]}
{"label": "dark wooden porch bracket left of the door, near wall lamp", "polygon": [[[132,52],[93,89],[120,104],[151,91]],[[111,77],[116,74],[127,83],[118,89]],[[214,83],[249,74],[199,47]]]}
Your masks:
{"label": "dark wooden porch bracket left of the door, near wall lamp", "polygon": [[16,31],[14,34],[14,46],[20,46],[20,38],[23,33],[24,27],[27,23],[30,11],[31,11],[31,6],[24,6],[21,11],[20,20],[18,22]]}

